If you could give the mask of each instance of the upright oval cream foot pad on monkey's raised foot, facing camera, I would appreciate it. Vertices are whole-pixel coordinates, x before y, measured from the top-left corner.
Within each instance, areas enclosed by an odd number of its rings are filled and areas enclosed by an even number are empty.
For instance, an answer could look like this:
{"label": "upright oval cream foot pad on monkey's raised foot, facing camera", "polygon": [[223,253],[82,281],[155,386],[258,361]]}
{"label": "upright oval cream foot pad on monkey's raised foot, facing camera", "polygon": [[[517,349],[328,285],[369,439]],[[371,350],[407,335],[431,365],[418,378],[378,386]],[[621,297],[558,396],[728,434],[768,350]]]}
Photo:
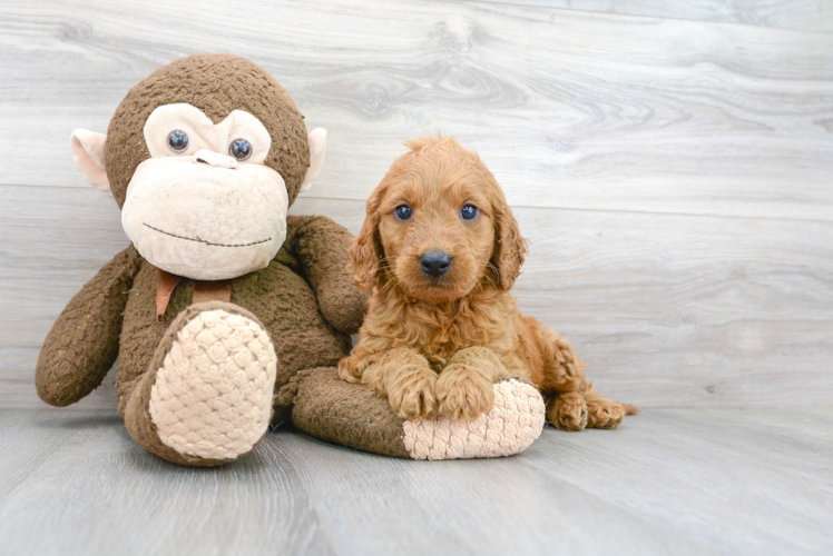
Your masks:
{"label": "upright oval cream foot pad on monkey's raised foot, facing camera", "polygon": [[234,459],[266,433],[277,357],[255,321],[222,309],[178,332],[150,390],[159,439],[180,454]]}

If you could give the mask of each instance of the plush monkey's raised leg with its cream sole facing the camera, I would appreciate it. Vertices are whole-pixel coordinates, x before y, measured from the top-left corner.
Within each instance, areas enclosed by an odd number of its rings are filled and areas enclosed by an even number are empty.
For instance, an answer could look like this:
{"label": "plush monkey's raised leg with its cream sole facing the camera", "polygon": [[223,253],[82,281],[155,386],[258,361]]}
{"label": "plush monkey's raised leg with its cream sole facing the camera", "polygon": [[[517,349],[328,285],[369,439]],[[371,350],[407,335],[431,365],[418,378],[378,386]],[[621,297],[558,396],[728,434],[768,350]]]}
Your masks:
{"label": "plush monkey's raised leg with its cream sole facing the camera", "polygon": [[125,424],[148,451],[214,466],[248,454],[266,434],[277,357],[247,310],[196,304],[171,322],[130,394]]}

